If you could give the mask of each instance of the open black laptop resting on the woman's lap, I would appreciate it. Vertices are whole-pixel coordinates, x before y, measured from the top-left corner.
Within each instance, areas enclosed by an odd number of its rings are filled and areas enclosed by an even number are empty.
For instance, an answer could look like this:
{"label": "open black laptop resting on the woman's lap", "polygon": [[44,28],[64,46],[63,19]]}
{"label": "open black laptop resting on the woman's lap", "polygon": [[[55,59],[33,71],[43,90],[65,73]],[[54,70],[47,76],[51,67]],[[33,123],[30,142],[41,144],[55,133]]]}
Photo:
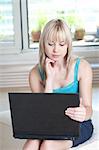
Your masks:
{"label": "open black laptop resting on the woman's lap", "polygon": [[19,139],[63,140],[79,136],[79,122],[65,115],[79,106],[78,94],[9,93],[13,136]]}

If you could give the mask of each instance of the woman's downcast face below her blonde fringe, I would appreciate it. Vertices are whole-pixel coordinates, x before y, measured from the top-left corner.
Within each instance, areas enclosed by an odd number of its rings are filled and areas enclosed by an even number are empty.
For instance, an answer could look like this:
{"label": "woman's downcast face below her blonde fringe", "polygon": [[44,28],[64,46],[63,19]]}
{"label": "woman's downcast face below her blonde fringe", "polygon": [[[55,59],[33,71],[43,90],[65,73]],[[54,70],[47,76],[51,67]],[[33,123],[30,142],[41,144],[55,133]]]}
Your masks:
{"label": "woman's downcast face below her blonde fringe", "polygon": [[67,54],[66,41],[46,41],[45,54],[52,60],[59,61],[63,59]]}

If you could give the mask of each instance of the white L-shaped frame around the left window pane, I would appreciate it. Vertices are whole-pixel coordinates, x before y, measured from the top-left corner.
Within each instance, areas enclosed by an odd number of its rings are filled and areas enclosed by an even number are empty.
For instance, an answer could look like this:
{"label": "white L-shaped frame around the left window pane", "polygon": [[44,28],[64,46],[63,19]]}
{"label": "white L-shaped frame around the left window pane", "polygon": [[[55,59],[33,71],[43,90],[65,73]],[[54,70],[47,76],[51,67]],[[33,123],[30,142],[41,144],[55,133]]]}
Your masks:
{"label": "white L-shaped frame around the left window pane", "polygon": [[0,54],[15,54],[21,52],[22,49],[22,33],[21,33],[21,14],[20,14],[20,0],[12,1],[13,24],[15,43],[0,43]]}

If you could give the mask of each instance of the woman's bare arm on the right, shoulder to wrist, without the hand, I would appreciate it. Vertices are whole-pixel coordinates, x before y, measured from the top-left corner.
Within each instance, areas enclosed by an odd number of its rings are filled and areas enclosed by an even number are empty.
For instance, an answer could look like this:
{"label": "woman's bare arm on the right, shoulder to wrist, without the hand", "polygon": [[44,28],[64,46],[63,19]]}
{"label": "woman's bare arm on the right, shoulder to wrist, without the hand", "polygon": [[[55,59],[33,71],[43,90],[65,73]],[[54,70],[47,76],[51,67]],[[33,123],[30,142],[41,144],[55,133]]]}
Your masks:
{"label": "woman's bare arm on the right, shoulder to wrist, without the hand", "polygon": [[90,64],[82,60],[79,70],[79,91],[82,105],[86,108],[85,120],[92,116],[92,69]]}

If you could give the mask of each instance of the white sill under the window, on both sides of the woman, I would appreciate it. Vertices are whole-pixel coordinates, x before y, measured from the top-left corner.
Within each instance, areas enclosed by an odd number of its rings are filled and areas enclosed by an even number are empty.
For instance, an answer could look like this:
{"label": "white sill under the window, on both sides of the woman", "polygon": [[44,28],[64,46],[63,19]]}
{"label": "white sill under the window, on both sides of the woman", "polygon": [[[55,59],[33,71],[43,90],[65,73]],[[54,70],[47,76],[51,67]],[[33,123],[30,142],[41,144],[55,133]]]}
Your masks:
{"label": "white sill under the window, on both sides of the woman", "polygon": [[[73,47],[73,53],[84,57],[89,63],[99,63],[99,46]],[[22,50],[21,53],[1,54],[0,65],[36,64],[38,62],[38,48]]]}

